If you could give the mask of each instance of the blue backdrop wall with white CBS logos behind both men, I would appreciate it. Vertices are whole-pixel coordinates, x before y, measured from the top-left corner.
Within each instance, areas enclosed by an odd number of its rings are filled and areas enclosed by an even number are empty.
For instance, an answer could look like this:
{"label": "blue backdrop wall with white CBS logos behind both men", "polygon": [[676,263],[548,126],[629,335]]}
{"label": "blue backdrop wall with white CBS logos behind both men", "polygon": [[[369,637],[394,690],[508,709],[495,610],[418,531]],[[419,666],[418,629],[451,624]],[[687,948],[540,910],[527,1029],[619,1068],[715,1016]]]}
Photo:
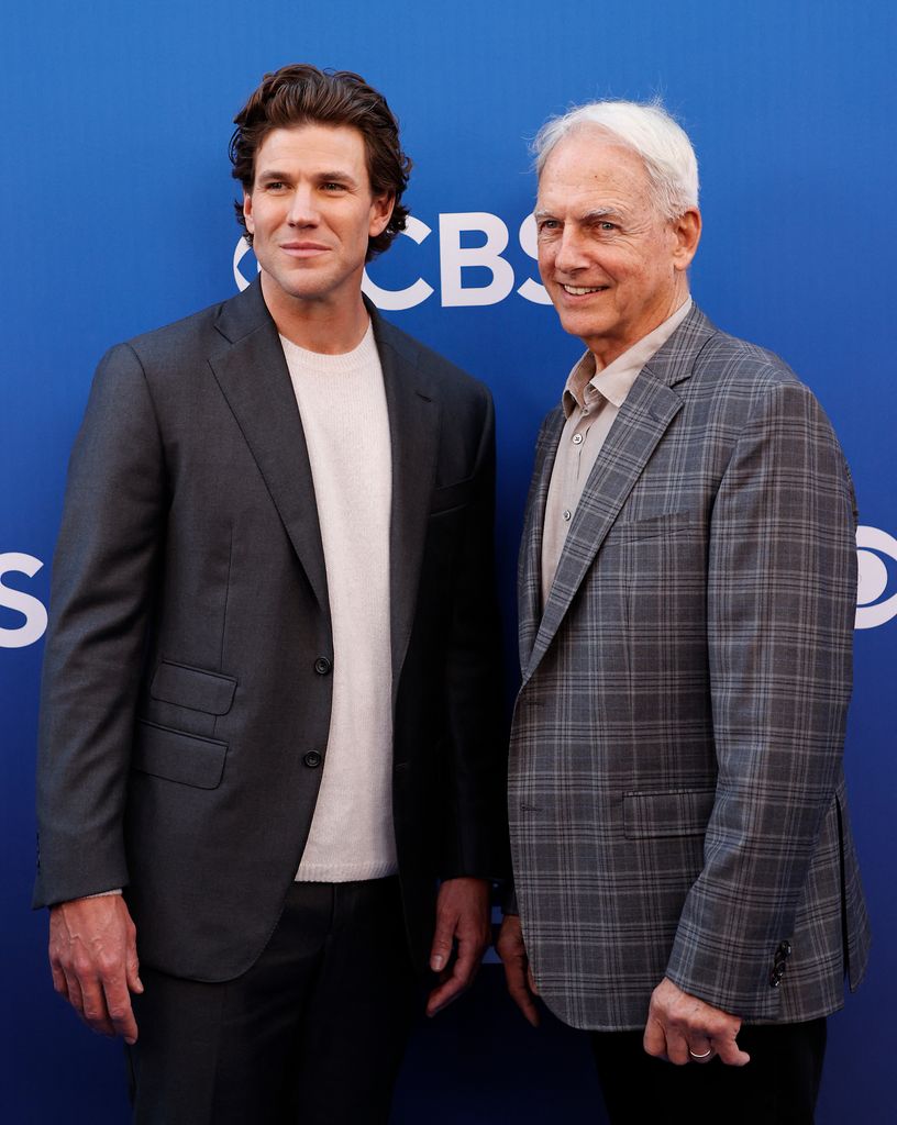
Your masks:
{"label": "blue backdrop wall with white CBS logos behind both men", "polygon": [[[517,540],[533,436],[578,343],[546,303],[527,140],[595,97],[661,94],[701,165],[692,272],[721,327],[782,354],[834,421],[861,511],[853,820],[876,930],[831,1020],[818,1119],[897,1120],[897,503],[891,0],[43,0],[0,34],[0,1120],[127,1119],[117,1044],[52,992],[34,867],[34,742],[48,570],[69,448],[113,342],[227,297],[231,118],[287,62],[362,73],[415,170],[407,237],[370,268],[386,315],[493,389],[499,549],[513,658]],[[395,1125],[601,1119],[582,1038],[532,1032],[487,965],[415,1035]]]}

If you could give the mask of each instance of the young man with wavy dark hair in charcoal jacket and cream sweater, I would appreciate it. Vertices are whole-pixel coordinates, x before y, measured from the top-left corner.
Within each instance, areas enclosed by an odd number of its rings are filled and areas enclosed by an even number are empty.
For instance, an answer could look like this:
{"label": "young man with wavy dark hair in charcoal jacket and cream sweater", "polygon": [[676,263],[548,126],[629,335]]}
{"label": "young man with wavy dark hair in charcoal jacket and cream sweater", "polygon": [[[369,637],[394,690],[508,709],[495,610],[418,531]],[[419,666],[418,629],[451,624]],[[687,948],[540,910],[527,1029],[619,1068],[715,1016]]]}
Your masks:
{"label": "young man with wavy dark hair in charcoal jacket and cream sweater", "polygon": [[287,66],[235,120],[259,279],[114,348],[72,457],[35,901],[135,1120],[379,1122],[501,863],[492,403],[362,299],[383,96]]}

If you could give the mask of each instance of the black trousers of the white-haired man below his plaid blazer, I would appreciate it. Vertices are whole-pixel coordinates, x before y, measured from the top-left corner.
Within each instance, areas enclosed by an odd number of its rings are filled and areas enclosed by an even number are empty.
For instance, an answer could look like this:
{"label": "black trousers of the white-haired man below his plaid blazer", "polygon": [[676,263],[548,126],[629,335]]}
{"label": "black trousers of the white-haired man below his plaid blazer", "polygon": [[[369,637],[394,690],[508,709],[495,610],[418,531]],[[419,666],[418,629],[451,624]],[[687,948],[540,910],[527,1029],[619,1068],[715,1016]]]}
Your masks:
{"label": "black trousers of the white-haired man below his plaid blazer", "polygon": [[645,1054],[642,1032],[591,1032],[612,1125],[811,1125],[825,1058],[825,1019],[743,1026],[744,1066],[676,1066]]}

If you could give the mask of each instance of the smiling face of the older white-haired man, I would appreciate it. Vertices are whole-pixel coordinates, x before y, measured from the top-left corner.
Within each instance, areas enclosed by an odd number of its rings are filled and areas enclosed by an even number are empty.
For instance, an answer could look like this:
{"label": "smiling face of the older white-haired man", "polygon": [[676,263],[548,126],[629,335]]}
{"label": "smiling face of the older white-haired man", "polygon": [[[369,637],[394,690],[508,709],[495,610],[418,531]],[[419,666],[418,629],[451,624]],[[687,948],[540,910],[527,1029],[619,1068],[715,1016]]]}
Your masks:
{"label": "smiling face of the older white-haired man", "polygon": [[584,127],[558,142],[539,178],[539,272],[560,323],[599,367],[663,323],[688,292],[700,216],[666,220],[640,158]]}

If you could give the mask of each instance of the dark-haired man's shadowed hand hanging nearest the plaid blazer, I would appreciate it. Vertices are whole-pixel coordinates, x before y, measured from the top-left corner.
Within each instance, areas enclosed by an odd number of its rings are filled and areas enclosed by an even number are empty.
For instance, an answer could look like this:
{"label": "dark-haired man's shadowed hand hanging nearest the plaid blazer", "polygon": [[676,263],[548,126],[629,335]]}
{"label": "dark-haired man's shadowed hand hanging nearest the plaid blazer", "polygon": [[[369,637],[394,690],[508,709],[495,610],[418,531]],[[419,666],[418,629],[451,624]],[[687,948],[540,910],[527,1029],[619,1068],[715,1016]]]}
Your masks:
{"label": "dark-haired man's shadowed hand hanging nearest the plaid blazer", "polygon": [[[485,879],[447,879],[439,888],[430,968],[439,973],[440,983],[427,1001],[428,1016],[441,1011],[473,984],[492,938],[488,900]],[[455,942],[457,956],[449,965]]]}

